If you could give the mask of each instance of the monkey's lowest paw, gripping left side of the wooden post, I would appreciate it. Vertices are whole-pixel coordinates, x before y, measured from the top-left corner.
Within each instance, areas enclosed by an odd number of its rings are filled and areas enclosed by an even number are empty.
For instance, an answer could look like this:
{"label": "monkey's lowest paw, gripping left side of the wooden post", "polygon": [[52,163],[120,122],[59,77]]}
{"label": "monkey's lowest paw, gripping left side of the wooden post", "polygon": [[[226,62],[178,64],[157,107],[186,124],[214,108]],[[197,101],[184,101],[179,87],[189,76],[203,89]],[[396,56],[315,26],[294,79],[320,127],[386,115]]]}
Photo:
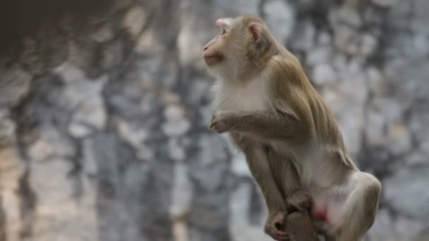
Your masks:
{"label": "monkey's lowest paw, gripping left side of the wooden post", "polygon": [[286,232],[282,231],[282,228],[284,228],[284,218],[286,217],[286,215],[286,211],[277,211],[268,215],[267,221],[265,222],[264,231],[274,240],[289,240],[289,235],[287,235]]}

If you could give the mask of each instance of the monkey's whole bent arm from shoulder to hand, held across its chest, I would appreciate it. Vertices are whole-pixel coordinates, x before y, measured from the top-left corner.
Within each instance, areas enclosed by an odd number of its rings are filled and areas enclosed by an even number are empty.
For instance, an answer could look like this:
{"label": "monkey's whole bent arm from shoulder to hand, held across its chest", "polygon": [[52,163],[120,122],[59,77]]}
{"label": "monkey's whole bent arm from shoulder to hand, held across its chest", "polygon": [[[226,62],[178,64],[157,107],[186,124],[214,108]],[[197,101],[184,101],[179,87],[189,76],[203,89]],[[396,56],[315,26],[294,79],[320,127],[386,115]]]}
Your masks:
{"label": "monkey's whole bent arm from shoulder to hand, held across its chest", "polygon": [[262,74],[272,109],[267,111],[219,111],[211,128],[236,131],[263,140],[304,142],[315,134],[310,99],[317,94],[293,56],[274,56]]}

